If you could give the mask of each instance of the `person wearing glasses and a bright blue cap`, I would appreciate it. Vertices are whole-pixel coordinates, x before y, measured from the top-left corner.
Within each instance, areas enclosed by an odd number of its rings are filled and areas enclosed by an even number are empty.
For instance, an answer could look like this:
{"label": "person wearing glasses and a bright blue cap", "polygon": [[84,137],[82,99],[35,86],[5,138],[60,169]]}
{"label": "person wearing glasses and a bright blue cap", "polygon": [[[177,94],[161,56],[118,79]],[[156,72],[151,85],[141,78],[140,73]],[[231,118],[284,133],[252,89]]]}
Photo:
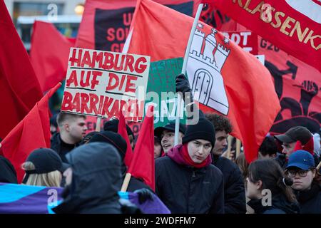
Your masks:
{"label": "person wearing glasses and a bright blue cap", "polygon": [[292,190],[300,203],[302,214],[321,214],[320,175],[310,152],[297,150],[289,157],[285,171],[293,181]]}

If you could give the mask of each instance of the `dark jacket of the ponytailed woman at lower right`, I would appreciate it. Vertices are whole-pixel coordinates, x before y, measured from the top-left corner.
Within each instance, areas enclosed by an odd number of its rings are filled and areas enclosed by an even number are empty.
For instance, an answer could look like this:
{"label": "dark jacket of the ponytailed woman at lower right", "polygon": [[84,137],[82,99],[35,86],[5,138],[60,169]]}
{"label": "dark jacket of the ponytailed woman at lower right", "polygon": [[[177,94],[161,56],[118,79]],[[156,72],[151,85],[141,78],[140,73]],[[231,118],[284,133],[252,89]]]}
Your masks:
{"label": "dark jacket of the ponytailed woman at lower right", "polygon": [[248,205],[254,209],[255,214],[297,214],[300,212],[299,205],[291,203],[285,195],[272,196],[271,205],[263,206],[265,199],[250,199]]}

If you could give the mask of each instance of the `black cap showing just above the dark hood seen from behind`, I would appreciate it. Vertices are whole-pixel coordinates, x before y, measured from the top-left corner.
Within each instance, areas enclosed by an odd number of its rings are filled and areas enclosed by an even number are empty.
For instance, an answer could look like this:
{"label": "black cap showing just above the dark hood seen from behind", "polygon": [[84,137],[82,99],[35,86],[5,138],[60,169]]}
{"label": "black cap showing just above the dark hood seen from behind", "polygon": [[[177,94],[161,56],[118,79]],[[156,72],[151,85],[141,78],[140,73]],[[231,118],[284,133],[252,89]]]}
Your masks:
{"label": "black cap showing just above the dark hood seen from behind", "polygon": [[118,133],[113,133],[108,130],[103,131],[103,132],[99,132],[99,133],[96,133],[95,135],[93,135],[93,138],[91,138],[91,140],[89,140],[89,142],[108,142],[108,143],[111,143],[111,145],[116,147],[116,149],[118,150],[119,155],[121,155],[121,159],[123,160],[125,158],[126,150],[127,150],[127,143],[126,143],[126,140],[124,140],[124,138],[121,135],[119,135]]}

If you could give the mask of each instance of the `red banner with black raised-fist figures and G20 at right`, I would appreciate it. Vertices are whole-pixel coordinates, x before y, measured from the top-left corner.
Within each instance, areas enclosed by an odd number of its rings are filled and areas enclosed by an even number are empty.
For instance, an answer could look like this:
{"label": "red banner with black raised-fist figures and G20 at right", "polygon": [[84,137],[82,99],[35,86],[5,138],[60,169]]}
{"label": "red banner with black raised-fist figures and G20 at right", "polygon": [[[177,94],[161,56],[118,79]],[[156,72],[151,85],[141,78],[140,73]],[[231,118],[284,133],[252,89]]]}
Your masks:
{"label": "red banner with black raised-fist figures and G20 at right", "polygon": [[285,133],[299,125],[316,133],[321,127],[320,72],[264,38],[259,38],[259,53],[265,55],[281,105],[270,133]]}

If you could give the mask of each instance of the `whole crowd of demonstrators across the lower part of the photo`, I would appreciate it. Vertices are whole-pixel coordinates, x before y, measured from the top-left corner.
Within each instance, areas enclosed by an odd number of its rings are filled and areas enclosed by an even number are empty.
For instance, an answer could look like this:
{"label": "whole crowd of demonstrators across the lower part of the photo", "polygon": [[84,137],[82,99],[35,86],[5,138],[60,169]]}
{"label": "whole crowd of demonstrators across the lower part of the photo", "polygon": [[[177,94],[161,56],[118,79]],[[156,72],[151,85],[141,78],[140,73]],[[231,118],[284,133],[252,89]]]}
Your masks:
{"label": "whole crowd of demonstrators across the lower part of the photo", "polygon": [[[188,92],[187,79],[178,76],[176,88]],[[180,214],[321,213],[320,132],[297,126],[267,135],[258,160],[248,164],[245,152],[233,160],[223,156],[233,131],[228,118],[199,113],[198,123],[180,124],[178,145],[175,122],[154,130],[156,190],[131,177],[128,192],[137,192],[142,200],[156,194],[171,213]],[[140,213],[119,200],[128,145],[117,133],[118,120],[87,135],[85,120],[71,113],[54,116],[51,148],[31,152],[21,165],[26,172],[22,184],[64,187],[56,213]],[[4,157],[0,170],[0,182],[17,183],[14,167]]]}

